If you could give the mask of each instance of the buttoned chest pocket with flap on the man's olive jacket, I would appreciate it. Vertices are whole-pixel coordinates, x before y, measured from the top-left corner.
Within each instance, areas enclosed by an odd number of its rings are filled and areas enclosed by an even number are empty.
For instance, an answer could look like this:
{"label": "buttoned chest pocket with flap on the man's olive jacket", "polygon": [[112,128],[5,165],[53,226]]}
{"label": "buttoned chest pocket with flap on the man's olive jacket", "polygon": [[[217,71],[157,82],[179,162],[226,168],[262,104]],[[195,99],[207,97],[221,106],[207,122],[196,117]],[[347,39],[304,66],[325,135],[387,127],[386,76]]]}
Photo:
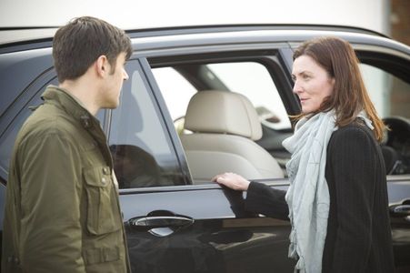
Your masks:
{"label": "buttoned chest pocket with flap on the man's olive jacket", "polygon": [[101,235],[120,229],[122,223],[110,168],[105,166],[87,168],[84,171],[84,178],[88,232]]}

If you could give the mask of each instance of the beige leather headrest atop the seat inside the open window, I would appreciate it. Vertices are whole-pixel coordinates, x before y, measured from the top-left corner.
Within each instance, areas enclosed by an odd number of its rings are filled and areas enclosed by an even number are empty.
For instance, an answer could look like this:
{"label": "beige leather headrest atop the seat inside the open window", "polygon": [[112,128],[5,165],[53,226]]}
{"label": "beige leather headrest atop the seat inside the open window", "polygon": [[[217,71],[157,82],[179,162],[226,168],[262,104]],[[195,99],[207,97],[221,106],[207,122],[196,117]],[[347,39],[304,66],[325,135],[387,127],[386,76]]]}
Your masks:
{"label": "beige leather headrest atop the seat inside the open window", "polygon": [[222,133],[262,137],[262,126],[255,107],[241,94],[207,90],[195,94],[185,116],[185,129],[200,133]]}

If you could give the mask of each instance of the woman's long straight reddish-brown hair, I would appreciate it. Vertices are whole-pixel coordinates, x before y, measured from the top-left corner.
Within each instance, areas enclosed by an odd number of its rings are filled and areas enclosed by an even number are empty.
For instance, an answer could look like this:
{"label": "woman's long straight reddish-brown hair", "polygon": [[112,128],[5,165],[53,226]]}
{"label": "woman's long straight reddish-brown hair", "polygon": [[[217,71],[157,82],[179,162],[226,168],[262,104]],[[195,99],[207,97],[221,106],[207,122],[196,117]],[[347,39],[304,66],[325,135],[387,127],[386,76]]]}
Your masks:
{"label": "woman's long straight reddish-brown hair", "polygon": [[[334,92],[325,98],[318,112],[334,109],[336,126],[346,126],[364,110],[375,126],[376,139],[381,141],[385,125],[367,94],[352,45],[338,37],[318,37],[300,45],[295,50],[294,60],[299,56],[310,56],[335,78]],[[301,116],[305,115],[298,117]]]}

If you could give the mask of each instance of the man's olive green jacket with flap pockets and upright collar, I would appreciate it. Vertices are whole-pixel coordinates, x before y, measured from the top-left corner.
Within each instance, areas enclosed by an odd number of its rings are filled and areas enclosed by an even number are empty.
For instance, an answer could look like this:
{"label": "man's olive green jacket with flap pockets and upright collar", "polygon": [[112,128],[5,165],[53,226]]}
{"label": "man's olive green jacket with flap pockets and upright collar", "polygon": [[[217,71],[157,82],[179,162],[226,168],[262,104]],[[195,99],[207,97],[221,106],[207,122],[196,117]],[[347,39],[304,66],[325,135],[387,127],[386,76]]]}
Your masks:
{"label": "man's olive green jacket with flap pockets and upright collar", "polygon": [[43,99],[15,141],[2,272],[129,272],[105,134],[64,90]]}

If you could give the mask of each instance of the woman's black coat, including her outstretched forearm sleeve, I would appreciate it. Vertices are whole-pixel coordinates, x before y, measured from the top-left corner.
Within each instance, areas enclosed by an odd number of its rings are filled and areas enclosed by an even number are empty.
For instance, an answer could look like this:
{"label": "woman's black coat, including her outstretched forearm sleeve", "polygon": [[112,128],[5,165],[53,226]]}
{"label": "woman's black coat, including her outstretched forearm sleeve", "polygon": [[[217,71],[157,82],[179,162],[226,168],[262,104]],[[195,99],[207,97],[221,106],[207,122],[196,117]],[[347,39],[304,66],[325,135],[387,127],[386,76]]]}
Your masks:
{"label": "woman's black coat, including her outstretched forearm sleeve", "polygon": [[[323,272],[394,272],[385,163],[373,133],[355,122],[336,130],[327,147],[329,187]],[[252,182],[246,210],[288,219],[285,191]]]}

